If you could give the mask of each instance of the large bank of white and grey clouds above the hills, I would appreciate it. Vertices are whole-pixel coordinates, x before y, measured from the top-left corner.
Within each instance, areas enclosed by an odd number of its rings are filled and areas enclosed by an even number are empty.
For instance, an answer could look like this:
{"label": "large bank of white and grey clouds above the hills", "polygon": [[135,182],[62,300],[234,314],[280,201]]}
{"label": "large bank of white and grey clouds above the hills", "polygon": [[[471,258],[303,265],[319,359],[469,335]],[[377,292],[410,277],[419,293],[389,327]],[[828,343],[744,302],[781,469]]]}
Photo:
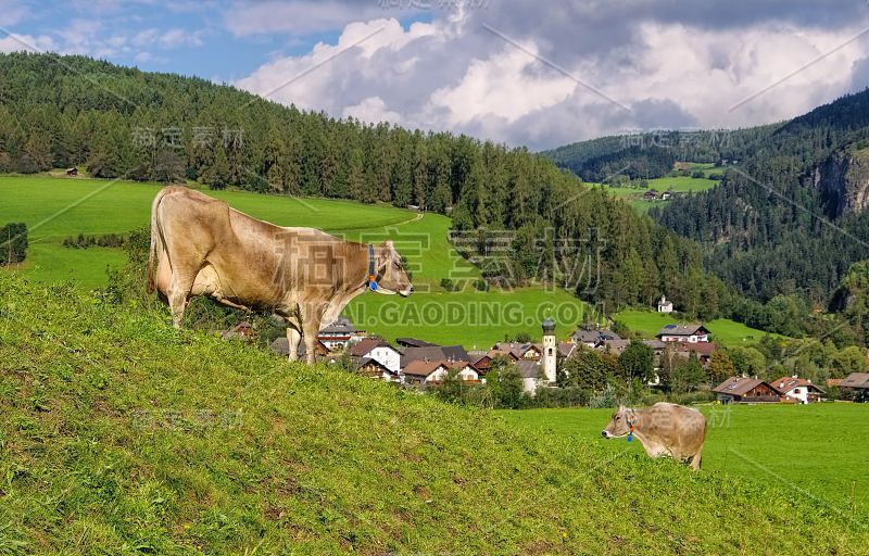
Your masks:
{"label": "large bank of white and grey clouds above the hills", "polygon": [[[288,10],[303,4],[290,2]],[[340,4],[324,2],[318,17],[341,21]],[[765,8],[772,14],[772,4]],[[324,15],[330,10],[331,20]],[[552,60],[564,68],[558,72],[483,29],[505,10],[450,12],[406,28],[394,18],[351,22],[335,43],[272,60],[236,85],[366,122],[543,148],[626,129],[781,121],[862,88],[854,79],[869,75],[869,62],[861,62],[865,40],[844,45],[860,30],[857,23],[822,26],[766,14],[741,25],[709,26],[696,13],[664,21],[647,14],[631,20],[624,10],[615,14],[621,20],[589,10],[550,15],[519,10],[515,17],[530,30],[511,40]],[[291,12],[275,11],[278,21],[263,21],[263,27],[254,27],[251,15],[230,29],[299,30],[295,23],[281,23],[279,13]],[[565,20],[574,27],[569,36]],[[496,21],[502,23],[511,28]]]}

